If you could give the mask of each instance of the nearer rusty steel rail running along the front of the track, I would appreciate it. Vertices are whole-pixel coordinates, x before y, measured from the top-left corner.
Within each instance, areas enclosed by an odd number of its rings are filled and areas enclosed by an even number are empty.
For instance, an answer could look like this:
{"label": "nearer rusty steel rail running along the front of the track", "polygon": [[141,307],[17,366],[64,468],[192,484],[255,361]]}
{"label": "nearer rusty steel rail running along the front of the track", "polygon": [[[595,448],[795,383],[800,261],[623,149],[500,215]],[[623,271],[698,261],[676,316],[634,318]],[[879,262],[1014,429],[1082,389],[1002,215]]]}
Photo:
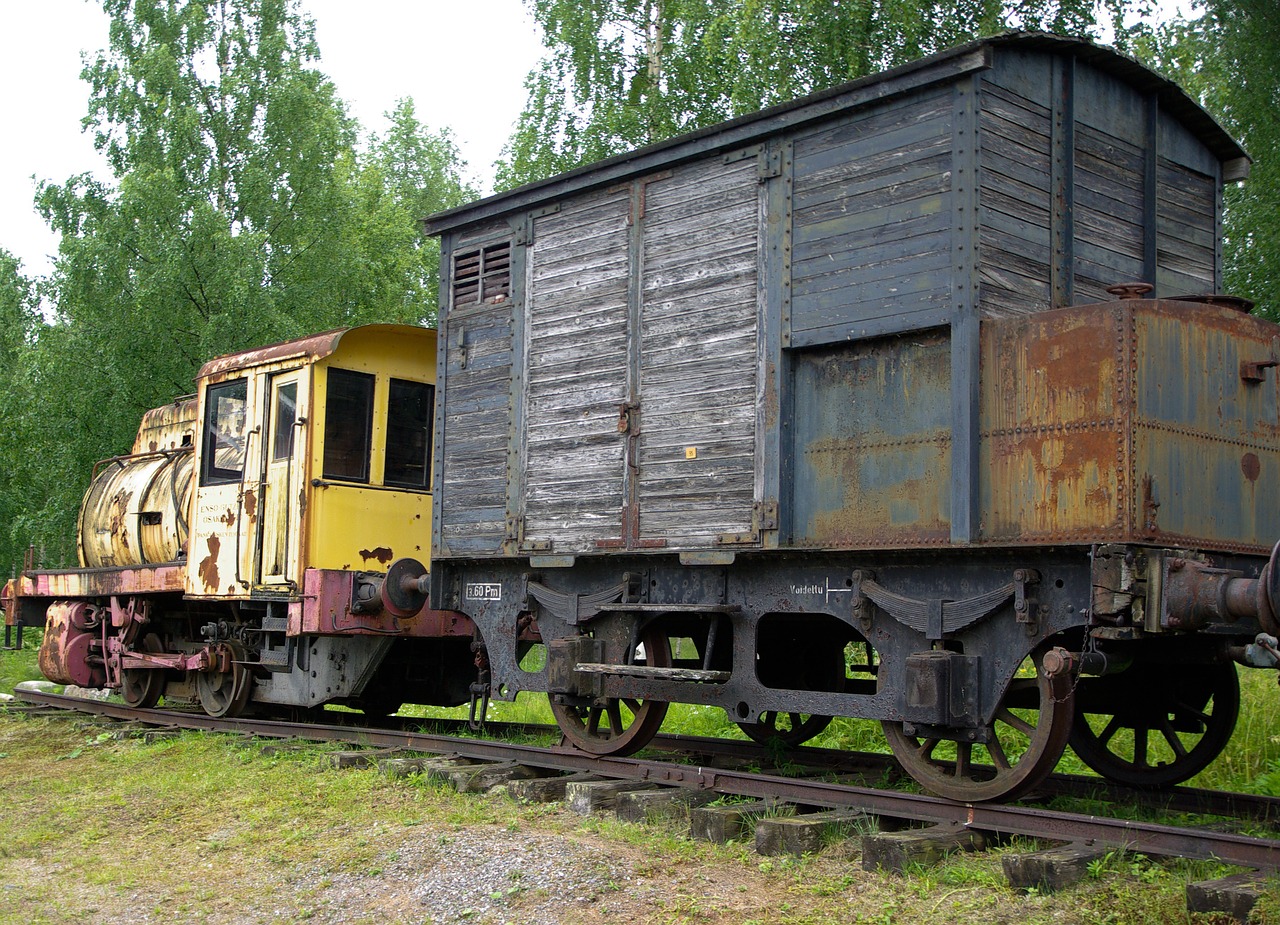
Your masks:
{"label": "nearer rusty steel rail running along the front of the track", "polygon": [[15,695],[28,704],[90,713],[147,725],[241,732],[262,738],[316,738],[366,747],[403,748],[477,761],[517,761],[531,768],[591,771],[608,778],[650,782],[687,789],[714,791],[758,800],[786,800],[803,806],[858,809],[872,815],[954,825],[980,832],[1085,842],[1166,857],[1216,860],[1260,870],[1280,870],[1280,839],[1257,838],[1211,829],[1157,825],[1129,819],[1061,812],[1034,806],[956,803],[940,797],[881,791],[852,784],[792,779],[723,768],[671,761],[589,755],[566,747],[544,748],[511,742],[458,738],[394,729],[370,729],[317,723],[285,723],[241,716],[218,719],[197,713],[134,710],[122,704],[67,697],[36,691]]}

